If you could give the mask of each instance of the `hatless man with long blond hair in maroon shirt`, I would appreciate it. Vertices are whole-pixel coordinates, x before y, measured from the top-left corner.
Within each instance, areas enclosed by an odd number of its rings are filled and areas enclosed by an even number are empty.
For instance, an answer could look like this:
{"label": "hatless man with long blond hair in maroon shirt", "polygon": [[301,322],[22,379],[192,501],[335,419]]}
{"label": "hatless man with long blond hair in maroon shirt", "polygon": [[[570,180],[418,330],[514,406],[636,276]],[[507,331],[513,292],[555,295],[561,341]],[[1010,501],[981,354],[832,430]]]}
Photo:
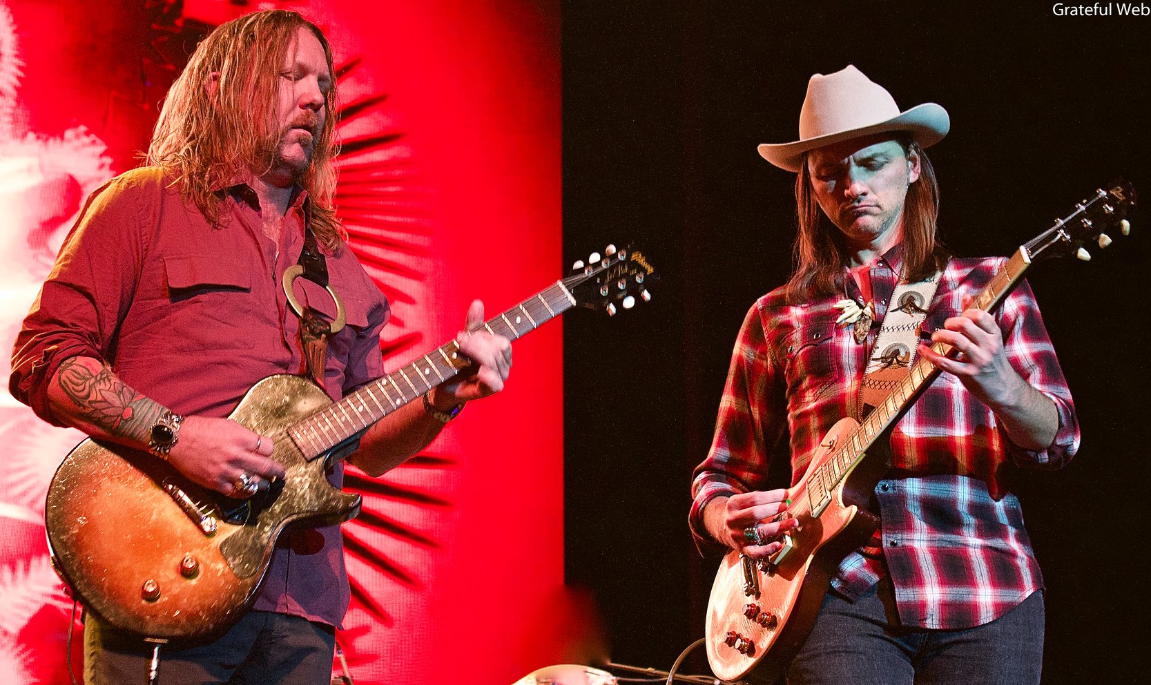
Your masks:
{"label": "hatless man with long blond hair in maroon shirt", "polygon": [[[13,395],[52,424],[147,450],[231,497],[283,478],[270,436],[224,418],[246,390],[300,373],[337,399],[383,373],[388,302],[331,206],[335,85],[323,33],[297,13],[213,31],[165,100],[150,166],[89,198],[17,336]],[[296,281],[305,326],[279,287],[302,254],[323,262],[345,304],[346,326],[330,335],[338,307],[323,288]],[[465,330],[482,321],[473,302]],[[459,343],[470,371],[368,428],[353,464],[383,473],[464,402],[502,389],[510,343],[482,329]],[[330,480],[341,478],[337,467]],[[348,602],[338,526],[292,532],[252,610],[216,639],[167,645],[159,682],[327,683]],[[89,685],[143,684],[151,656],[139,637],[86,616]]]}

